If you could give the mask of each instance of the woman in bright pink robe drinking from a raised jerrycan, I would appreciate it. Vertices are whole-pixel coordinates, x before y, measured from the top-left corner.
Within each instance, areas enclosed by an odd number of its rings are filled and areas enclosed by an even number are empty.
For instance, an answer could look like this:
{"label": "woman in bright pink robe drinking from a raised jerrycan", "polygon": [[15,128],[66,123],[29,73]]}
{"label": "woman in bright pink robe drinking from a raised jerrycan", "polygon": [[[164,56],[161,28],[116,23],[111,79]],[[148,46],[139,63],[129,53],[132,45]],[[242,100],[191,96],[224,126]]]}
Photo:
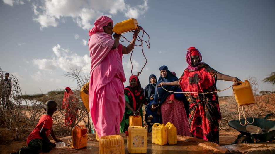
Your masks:
{"label": "woman in bright pink robe drinking from a raised jerrycan", "polygon": [[[113,20],[99,17],[89,31],[91,77],[89,85],[89,107],[94,128],[99,136],[119,134],[120,121],[125,110],[124,85],[126,81],[122,67],[122,54],[128,54],[135,39],[127,46],[119,43],[120,35],[112,38]],[[135,31],[135,38],[139,30]]]}

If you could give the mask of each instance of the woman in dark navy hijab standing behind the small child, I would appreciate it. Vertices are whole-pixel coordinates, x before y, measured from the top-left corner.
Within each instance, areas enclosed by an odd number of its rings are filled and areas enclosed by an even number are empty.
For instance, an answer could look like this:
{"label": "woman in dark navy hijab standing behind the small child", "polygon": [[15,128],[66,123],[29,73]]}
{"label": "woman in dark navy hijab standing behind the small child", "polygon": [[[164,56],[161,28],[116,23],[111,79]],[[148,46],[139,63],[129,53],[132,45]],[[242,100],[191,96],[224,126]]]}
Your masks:
{"label": "woman in dark navy hijab standing behind the small child", "polygon": [[147,103],[154,100],[155,88],[157,85],[157,77],[154,74],[149,76],[149,84],[144,89],[144,97]]}

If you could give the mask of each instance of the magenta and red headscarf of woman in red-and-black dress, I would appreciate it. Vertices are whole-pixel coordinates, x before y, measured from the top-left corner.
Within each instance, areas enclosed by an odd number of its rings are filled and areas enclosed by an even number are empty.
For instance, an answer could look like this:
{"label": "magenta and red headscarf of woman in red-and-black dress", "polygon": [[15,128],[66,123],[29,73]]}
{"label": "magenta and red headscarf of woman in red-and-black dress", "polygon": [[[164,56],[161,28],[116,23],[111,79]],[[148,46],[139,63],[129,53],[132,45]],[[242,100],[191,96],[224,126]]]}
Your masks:
{"label": "magenta and red headscarf of woman in red-and-black dress", "polygon": [[[202,57],[201,57],[201,53],[200,53],[200,51],[198,51],[198,49],[196,49],[195,47],[193,47],[193,46],[191,46],[191,47],[189,47],[189,48],[187,48],[187,53],[186,53],[186,56],[185,56],[185,60],[186,60],[186,62],[188,63],[188,65],[189,66],[187,66],[187,69],[189,69],[189,70],[198,70],[199,68],[201,68],[201,64],[205,64],[204,62],[201,62],[201,60],[202,60]],[[195,52],[194,52],[195,51]],[[199,60],[198,60],[198,62],[199,62],[199,64],[197,65],[197,66],[193,66],[192,65],[192,61],[191,61],[191,53],[198,53],[198,58],[199,58]],[[196,54],[195,54],[196,55]]]}

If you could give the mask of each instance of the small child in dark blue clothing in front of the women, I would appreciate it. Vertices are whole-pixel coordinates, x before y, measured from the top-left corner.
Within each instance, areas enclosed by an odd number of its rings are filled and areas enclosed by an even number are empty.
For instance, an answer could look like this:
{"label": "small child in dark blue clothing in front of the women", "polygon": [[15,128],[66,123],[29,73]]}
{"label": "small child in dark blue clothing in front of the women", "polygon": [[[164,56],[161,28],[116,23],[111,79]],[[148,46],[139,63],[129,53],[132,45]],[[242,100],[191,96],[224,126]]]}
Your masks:
{"label": "small child in dark blue clothing in front of the women", "polygon": [[145,108],[145,121],[148,125],[148,132],[152,132],[152,126],[154,123],[161,123],[160,113],[157,112],[157,102],[150,101]]}

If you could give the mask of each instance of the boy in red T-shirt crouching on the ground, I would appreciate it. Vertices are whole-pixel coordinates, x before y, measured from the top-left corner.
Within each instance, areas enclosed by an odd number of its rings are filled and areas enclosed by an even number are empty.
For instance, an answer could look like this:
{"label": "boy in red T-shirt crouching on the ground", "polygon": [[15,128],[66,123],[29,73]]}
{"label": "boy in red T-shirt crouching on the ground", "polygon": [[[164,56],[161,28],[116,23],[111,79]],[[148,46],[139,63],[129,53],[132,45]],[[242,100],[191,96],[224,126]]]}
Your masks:
{"label": "boy in red T-shirt crouching on the ground", "polygon": [[28,146],[22,147],[16,153],[11,154],[36,154],[42,151],[49,152],[56,146],[55,143],[50,142],[48,138],[49,134],[51,134],[52,139],[56,142],[62,142],[62,140],[55,138],[55,134],[52,130],[52,115],[57,110],[56,102],[53,100],[47,101],[44,110],[46,113],[41,116],[38,124],[28,136]]}

